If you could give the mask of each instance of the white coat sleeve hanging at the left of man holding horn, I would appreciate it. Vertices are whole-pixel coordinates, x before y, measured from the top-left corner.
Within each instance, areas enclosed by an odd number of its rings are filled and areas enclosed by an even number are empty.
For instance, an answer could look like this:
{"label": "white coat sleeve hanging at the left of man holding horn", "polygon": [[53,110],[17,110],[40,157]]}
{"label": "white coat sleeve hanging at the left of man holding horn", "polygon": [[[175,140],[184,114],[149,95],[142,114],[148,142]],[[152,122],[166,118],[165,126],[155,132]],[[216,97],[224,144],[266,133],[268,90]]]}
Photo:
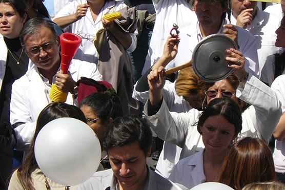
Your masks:
{"label": "white coat sleeve hanging at the left of man holding horn", "polygon": [[31,120],[31,112],[27,107],[25,98],[25,90],[21,87],[23,83],[15,81],[12,85],[12,95],[10,103],[10,122],[15,124],[18,122],[24,123],[18,125],[14,131],[17,138],[16,149],[26,151],[30,147],[30,142],[33,138],[36,122]]}

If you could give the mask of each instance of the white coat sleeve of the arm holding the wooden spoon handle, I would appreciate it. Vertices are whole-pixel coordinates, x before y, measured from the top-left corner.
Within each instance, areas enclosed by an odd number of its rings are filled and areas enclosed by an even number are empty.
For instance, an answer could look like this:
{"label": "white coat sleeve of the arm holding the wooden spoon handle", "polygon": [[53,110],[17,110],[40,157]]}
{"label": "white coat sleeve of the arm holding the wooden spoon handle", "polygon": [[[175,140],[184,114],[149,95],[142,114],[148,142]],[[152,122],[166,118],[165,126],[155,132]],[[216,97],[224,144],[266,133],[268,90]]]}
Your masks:
{"label": "white coat sleeve of the arm holding the wooden spoon handle", "polygon": [[148,103],[144,108],[145,118],[149,121],[156,135],[167,142],[183,147],[188,133],[189,123],[196,121],[199,111],[191,109],[188,113],[169,112],[165,100],[162,101],[159,111],[152,116],[148,115]]}

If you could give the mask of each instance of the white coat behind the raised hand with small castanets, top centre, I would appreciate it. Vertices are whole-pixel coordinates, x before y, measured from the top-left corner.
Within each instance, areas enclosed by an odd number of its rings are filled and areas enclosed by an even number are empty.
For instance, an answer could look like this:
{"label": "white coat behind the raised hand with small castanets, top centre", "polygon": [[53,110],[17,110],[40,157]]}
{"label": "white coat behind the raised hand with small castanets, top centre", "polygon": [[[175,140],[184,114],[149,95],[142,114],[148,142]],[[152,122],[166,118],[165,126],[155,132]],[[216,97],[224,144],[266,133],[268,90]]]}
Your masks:
{"label": "white coat behind the raised hand with small castanets, top centre", "polygon": [[[156,18],[142,74],[161,57],[164,44],[170,35],[173,24],[176,24],[180,31],[184,27],[195,26],[197,22],[195,12],[190,9],[189,4],[185,0],[153,0],[153,5]],[[172,67],[174,65],[170,63],[168,68]]]}

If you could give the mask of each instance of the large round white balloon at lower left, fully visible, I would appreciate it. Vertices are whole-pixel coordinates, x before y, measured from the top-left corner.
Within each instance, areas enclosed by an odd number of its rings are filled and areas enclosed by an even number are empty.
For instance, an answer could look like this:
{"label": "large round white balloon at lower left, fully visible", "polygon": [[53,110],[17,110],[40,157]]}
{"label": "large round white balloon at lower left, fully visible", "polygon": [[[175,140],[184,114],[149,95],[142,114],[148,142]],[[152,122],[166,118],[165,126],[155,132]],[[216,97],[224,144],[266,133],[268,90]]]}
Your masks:
{"label": "large round white balloon at lower left, fully visible", "polygon": [[58,118],[38,133],[34,146],[36,162],[51,180],[77,185],[97,170],[101,158],[100,142],[93,130],[74,118]]}

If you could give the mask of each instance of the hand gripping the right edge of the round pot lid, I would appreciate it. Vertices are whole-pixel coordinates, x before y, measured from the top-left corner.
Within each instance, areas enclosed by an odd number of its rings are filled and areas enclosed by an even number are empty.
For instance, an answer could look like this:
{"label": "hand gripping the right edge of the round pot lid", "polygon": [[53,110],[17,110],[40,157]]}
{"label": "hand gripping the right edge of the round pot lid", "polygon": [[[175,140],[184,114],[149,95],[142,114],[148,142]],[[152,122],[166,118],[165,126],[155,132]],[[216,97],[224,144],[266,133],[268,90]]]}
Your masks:
{"label": "hand gripping the right edge of the round pot lid", "polygon": [[247,71],[245,69],[245,64],[246,64],[246,58],[243,56],[243,54],[235,49],[228,49],[227,53],[229,54],[226,59],[231,62],[229,65],[230,68],[234,69],[234,74],[238,79],[243,78],[244,76],[247,75]]}

